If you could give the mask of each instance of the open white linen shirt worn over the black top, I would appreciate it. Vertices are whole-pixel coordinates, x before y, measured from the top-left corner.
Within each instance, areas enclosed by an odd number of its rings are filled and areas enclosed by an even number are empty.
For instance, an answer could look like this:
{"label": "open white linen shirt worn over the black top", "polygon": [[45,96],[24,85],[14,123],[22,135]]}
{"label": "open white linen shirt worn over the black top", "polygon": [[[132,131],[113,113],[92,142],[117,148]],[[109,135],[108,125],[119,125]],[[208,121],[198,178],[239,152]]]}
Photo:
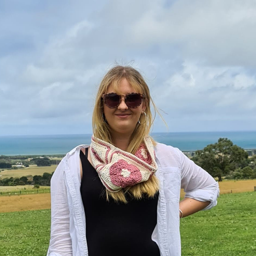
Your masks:
{"label": "open white linen shirt worn over the black top", "polygon": [[[51,233],[47,256],[88,256],[85,209],[80,194],[80,145],[61,160],[51,179]],[[219,186],[214,178],[178,148],[157,143],[155,147],[160,181],[157,224],[151,236],[161,256],[181,255],[179,201],[185,197],[217,204]],[[90,256],[90,255],[89,255]]]}

